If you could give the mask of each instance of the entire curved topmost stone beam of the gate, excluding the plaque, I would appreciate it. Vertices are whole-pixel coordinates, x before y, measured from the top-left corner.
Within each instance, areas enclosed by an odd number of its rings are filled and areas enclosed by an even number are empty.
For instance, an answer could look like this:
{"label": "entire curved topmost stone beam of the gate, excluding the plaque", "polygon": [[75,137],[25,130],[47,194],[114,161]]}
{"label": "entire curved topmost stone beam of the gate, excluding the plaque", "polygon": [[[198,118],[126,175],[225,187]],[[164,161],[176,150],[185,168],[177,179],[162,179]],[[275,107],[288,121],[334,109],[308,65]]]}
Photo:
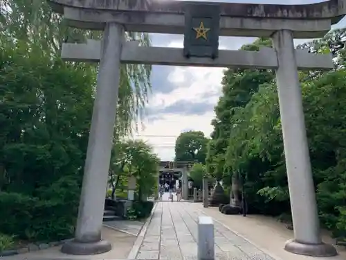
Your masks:
{"label": "entire curved topmost stone beam of the gate, excluding the plaque", "polygon": [[[317,38],[346,14],[346,0],[306,5],[215,3],[175,0],[48,0],[64,14],[69,26],[102,30],[107,22],[123,24],[126,31],[185,33],[185,11],[194,6],[219,6],[220,36],[270,37],[290,30],[295,38]],[[191,6],[194,5],[194,6]],[[275,20],[275,21],[273,21]]]}

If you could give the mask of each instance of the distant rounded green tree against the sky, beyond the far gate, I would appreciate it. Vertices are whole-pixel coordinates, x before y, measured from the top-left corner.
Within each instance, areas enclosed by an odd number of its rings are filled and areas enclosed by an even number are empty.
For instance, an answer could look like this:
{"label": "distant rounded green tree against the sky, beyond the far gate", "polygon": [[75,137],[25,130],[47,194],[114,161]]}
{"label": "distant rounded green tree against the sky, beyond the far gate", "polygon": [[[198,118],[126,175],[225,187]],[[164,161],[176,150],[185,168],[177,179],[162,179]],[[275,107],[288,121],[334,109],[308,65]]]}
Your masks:
{"label": "distant rounded green tree against the sky, beyond the far gate", "polygon": [[206,149],[208,138],[201,131],[183,132],[176,139],[175,158],[176,161],[206,161]]}

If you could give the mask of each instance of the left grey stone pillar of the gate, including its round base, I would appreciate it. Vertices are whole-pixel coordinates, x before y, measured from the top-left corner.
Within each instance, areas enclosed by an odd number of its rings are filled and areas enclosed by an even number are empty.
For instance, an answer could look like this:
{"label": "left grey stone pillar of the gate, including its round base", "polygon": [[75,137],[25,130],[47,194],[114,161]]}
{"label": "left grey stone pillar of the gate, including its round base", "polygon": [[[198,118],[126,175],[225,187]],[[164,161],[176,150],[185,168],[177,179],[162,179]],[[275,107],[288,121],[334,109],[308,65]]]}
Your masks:
{"label": "left grey stone pillar of the gate, including its round base", "polygon": [[111,243],[101,240],[101,229],[118,105],[123,39],[121,25],[111,23],[105,26],[77,228],[75,239],[62,247],[66,254],[89,255],[111,250]]}

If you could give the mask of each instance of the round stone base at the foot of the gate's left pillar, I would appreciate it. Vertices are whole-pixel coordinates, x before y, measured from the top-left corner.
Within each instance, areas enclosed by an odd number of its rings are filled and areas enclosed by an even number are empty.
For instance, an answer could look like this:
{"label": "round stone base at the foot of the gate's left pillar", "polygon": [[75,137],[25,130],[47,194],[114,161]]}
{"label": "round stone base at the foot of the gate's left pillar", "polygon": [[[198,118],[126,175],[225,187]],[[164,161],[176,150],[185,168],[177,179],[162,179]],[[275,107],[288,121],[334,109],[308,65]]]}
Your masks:
{"label": "round stone base at the foot of the gate's left pillar", "polygon": [[105,240],[97,242],[81,243],[78,241],[69,241],[62,245],[62,252],[73,255],[91,255],[102,254],[111,250],[111,243]]}

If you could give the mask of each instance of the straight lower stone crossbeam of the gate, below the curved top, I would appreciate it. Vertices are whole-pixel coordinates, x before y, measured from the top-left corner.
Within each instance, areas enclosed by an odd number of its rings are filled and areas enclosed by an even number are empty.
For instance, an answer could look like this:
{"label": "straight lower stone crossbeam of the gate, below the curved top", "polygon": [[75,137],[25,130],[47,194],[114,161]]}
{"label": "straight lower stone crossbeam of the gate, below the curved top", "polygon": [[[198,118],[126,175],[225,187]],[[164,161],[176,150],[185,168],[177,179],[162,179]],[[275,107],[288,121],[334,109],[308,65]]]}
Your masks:
{"label": "straight lower stone crossbeam of the gate, below the curved top", "polygon": [[[100,62],[101,43],[100,40],[87,40],[86,43],[64,43],[62,58],[74,62]],[[295,57],[300,70],[334,68],[330,53],[316,55],[305,49],[297,49]],[[212,60],[210,58],[185,58],[181,48],[140,46],[136,41],[122,44],[120,62],[243,69],[277,69],[278,67],[276,52],[268,47],[262,47],[260,51],[219,50],[219,58]]]}

